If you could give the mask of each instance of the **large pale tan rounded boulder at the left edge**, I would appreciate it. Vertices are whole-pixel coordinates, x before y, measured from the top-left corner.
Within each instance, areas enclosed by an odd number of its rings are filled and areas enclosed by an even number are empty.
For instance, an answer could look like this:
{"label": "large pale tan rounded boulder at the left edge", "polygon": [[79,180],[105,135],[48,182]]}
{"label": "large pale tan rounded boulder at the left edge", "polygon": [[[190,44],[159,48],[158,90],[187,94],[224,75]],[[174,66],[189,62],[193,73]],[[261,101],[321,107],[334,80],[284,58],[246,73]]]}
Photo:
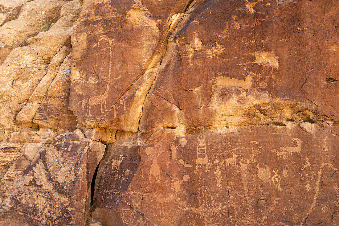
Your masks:
{"label": "large pale tan rounded boulder at the left edge", "polygon": [[45,75],[47,66],[28,46],[16,48],[7,56],[0,66],[0,133],[13,130],[16,115]]}

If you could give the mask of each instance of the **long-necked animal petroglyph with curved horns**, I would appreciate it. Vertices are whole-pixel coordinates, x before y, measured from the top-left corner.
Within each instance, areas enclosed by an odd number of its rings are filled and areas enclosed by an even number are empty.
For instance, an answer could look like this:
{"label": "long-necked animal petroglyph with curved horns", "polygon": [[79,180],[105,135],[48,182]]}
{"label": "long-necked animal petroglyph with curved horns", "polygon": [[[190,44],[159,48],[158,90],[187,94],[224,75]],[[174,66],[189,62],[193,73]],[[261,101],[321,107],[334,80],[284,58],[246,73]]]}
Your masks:
{"label": "long-necked animal petroglyph with curved horns", "polygon": [[86,115],[88,116],[93,116],[93,114],[91,114],[91,108],[93,106],[96,105],[101,105],[101,113],[105,113],[106,111],[108,111],[109,109],[106,109],[106,100],[108,97],[108,92],[109,92],[109,87],[111,85],[111,69],[112,69],[112,42],[114,42],[114,39],[109,39],[107,35],[103,35],[99,41],[98,41],[98,45],[100,45],[100,41],[101,40],[106,40],[109,44],[109,70],[108,70],[108,81],[106,84],[106,90],[103,94],[101,95],[97,95],[97,96],[90,96],[87,97],[81,101],[79,101],[79,103],[81,103],[82,108],[87,108],[87,113]]}

